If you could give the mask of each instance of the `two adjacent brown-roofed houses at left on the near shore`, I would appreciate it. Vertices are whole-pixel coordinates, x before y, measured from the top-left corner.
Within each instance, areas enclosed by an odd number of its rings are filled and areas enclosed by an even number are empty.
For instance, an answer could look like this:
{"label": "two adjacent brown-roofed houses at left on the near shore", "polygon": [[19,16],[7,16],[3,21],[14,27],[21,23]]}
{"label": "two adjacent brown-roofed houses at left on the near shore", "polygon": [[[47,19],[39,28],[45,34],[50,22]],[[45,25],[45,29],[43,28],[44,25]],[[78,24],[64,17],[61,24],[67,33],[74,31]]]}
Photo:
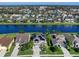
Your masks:
{"label": "two adjacent brown-roofed houses at left on the near shore", "polygon": [[29,42],[30,34],[15,34],[16,37],[8,37],[7,35],[0,39],[0,51],[7,50],[9,51],[11,46],[16,45],[16,43],[24,44]]}

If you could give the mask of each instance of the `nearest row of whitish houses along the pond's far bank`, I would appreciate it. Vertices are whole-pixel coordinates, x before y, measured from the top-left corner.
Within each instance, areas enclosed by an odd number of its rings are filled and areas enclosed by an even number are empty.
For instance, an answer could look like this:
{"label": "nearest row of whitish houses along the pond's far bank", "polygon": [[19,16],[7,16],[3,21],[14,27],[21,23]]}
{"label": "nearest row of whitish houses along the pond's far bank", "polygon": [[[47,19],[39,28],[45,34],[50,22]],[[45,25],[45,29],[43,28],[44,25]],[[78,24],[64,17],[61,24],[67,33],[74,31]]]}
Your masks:
{"label": "nearest row of whitish houses along the pond's far bank", "polygon": [[49,22],[75,22],[74,16],[72,14],[63,14],[62,16],[56,16],[55,15],[21,15],[21,14],[12,14],[9,18],[5,17],[3,18],[0,15],[0,21],[7,20],[9,22],[16,20],[16,21],[36,21],[36,22],[41,22],[41,21],[49,21]]}

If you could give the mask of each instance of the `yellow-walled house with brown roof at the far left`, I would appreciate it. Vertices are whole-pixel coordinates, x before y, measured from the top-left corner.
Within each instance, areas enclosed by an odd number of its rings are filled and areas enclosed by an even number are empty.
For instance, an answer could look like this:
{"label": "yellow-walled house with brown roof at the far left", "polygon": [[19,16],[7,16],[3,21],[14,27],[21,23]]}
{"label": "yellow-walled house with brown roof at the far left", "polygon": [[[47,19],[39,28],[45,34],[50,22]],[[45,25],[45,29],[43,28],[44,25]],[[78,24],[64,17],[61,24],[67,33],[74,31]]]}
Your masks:
{"label": "yellow-walled house with brown roof at the far left", "polygon": [[8,50],[11,48],[12,44],[14,42],[13,38],[9,38],[7,36],[0,39],[0,50]]}

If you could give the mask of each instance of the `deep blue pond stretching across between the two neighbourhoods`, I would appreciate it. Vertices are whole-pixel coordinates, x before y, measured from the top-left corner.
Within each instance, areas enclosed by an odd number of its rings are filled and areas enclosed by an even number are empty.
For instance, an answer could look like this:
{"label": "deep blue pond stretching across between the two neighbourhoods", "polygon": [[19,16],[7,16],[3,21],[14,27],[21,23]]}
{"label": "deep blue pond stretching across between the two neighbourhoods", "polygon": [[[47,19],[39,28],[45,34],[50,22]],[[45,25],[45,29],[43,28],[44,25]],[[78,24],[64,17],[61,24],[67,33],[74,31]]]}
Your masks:
{"label": "deep blue pond stretching across between the two neighbourhoods", "polygon": [[17,33],[20,30],[24,32],[79,32],[79,25],[0,25],[0,33]]}

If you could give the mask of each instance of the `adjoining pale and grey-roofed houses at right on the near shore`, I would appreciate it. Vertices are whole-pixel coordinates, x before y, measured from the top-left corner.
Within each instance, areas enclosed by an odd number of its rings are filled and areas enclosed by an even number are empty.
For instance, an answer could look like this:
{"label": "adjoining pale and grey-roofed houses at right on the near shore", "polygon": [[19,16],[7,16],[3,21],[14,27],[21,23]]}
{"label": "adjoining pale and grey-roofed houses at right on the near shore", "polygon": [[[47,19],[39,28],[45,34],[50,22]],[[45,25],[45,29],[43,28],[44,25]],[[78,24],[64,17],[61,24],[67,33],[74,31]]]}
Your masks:
{"label": "adjoining pale and grey-roofed houses at right on the near shore", "polygon": [[74,48],[79,48],[79,37],[76,35],[71,35],[71,34],[62,34],[62,35],[57,35],[57,34],[52,34],[52,44],[53,46],[63,46],[66,47],[67,45],[67,40],[71,42],[71,47]]}

